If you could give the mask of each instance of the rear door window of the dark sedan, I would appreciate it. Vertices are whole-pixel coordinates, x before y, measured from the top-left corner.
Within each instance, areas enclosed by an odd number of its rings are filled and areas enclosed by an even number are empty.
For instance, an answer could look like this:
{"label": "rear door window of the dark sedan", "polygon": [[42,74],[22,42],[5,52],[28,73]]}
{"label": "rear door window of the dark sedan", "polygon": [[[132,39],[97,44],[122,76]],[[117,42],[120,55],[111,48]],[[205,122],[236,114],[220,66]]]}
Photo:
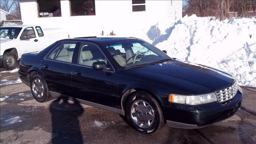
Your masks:
{"label": "rear door window of the dark sedan", "polygon": [[50,53],[47,59],[71,63],[75,47],[76,42],[63,42]]}

